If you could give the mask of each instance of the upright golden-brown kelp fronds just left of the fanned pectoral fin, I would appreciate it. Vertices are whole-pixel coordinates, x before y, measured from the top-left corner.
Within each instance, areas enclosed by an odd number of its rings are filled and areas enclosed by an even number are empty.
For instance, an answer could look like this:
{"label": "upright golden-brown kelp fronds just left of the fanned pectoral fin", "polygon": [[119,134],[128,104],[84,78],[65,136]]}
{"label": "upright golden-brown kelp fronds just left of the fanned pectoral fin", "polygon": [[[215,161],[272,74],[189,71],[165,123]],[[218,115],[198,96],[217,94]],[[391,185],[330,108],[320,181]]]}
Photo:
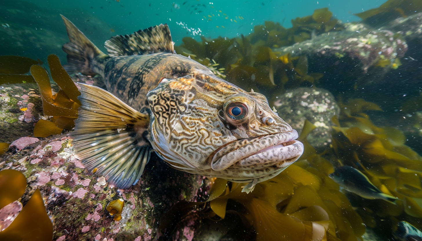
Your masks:
{"label": "upright golden-brown kelp fronds just left of the fanned pectoral fin", "polygon": [[63,129],[72,129],[75,125],[73,120],[78,117],[78,107],[81,105],[77,98],[80,92],[60,64],[59,58],[51,54],[47,60],[51,78],[61,90],[53,95],[47,71],[39,65],[32,65],[31,74],[41,90],[44,115],[51,116],[50,120],[40,119],[37,122],[34,127],[35,137],[47,137],[60,134]]}

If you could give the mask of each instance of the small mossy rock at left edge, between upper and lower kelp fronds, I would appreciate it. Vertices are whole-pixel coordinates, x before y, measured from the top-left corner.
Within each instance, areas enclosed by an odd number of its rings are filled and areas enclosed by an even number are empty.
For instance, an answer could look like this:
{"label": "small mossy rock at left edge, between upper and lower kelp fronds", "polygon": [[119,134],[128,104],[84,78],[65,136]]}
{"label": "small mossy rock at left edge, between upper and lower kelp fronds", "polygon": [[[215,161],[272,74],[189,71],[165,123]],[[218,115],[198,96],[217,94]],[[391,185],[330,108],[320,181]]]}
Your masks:
{"label": "small mossy rock at left edge, between upper and lower kelp fronds", "polygon": [[42,115],[42,105],[36,84],[0,87],[0,142],[31,136]]}

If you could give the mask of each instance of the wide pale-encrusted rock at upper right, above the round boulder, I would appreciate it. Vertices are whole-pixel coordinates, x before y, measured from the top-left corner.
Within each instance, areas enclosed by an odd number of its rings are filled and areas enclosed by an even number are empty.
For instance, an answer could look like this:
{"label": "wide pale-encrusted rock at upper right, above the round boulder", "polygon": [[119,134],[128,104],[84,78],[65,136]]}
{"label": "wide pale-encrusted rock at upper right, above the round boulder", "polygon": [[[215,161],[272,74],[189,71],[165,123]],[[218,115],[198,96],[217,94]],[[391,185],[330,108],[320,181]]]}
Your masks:
{"label": "wide pale-encrusted rock at upper right, above the round boulder", "polygon": [[[324,73],[319,86],[334,86],[343,81],[347,88],[365,75],[364,83],[376,82],[392,68],[396,58],[404,57],[408,46],[401,35],[387,29],[374,29],[363,23],[344,24],[340,32],[327,32],[311,40],[274,49],[281,55],[306,55],[309,72]],[[333,81],[335,81],[333,83]]]}

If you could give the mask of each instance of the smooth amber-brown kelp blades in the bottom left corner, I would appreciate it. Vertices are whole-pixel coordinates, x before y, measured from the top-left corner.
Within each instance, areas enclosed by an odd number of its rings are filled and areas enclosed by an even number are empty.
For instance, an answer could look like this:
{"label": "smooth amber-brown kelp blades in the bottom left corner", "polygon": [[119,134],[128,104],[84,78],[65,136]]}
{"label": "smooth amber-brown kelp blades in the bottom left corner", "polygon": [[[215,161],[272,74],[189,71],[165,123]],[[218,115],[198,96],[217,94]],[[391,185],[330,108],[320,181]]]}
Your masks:
{"label": "smooth amber-brown kelp blades in the bottom left corner", "polygon": [[[9,203],[19,202],[26,186],[26,178],[21,172],[11,169],[0,171],[0,209]],[[19,203],[19,206],[22,207],[22,204]],[[53,238],[53,224],[38,188],[22,210],[16,211],[19,214],[8,227],[2,227],[0,240],[45,241]]]}

